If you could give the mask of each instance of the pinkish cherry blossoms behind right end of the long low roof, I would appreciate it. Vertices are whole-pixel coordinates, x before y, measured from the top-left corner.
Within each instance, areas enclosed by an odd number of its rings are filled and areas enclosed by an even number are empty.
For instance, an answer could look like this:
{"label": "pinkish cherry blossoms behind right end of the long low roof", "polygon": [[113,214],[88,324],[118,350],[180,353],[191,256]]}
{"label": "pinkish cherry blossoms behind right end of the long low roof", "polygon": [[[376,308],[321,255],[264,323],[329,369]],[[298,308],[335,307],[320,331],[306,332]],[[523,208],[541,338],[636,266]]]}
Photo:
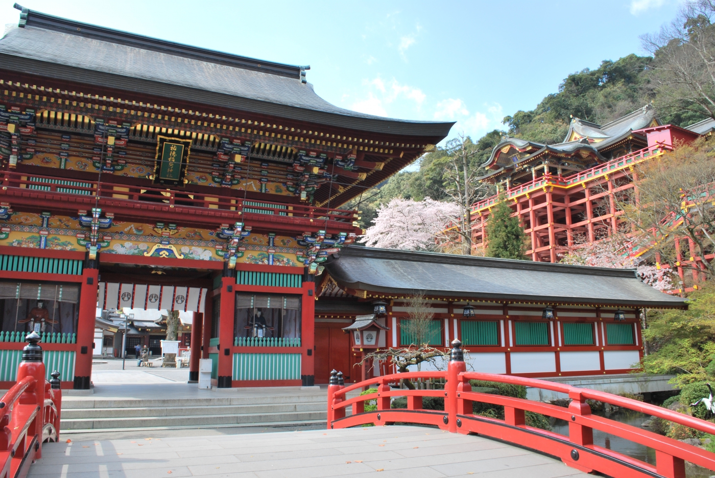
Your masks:
{"label": "pinkish cherry blossoms behind right end of the long low roof", "polygon": [[579,266],[608,267],[610,269],[636,269],[643,282],[660,291],[673,289],[669,269],[658,269],[646,264],[642,257],[631,257],[635,239],[625,234],[604,237],[588,242],[586,235],[574,236],[574,247],[561,256],[561,263]]}

